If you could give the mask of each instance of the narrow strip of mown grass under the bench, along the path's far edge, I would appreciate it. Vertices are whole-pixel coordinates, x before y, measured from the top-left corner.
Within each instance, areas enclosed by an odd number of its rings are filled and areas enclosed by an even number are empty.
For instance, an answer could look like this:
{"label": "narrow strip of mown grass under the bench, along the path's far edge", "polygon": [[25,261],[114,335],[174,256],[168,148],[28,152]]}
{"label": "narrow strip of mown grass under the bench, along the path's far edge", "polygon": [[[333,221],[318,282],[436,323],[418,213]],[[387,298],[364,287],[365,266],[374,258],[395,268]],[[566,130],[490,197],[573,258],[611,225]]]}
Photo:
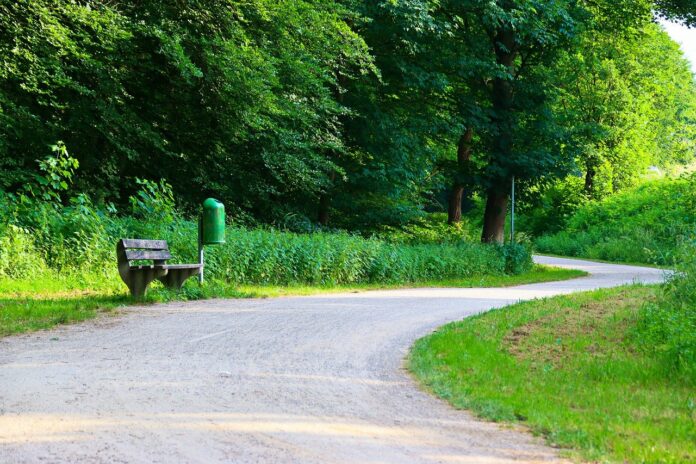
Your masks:
{"label": "narrow strip of mown grass under the bench, along the path's far edge", "polygon": [[[535,266],[531,271],[511,276],[481,276],[457,280],[412,284],[423,287],[502,287],[551,280],[565,280],[584,275],[581,271]],[[94,282],[99,282],[94,284]],[[92,283],[92,287],[89,284]],[[291,295],[313,295],[329,292],[358,292],[376,289],[403,288],[409,285],[361,284],[337,286],[308,285],[232,285],[207,282],[199,286],[189,280],[182,292],[170,292],[153,285],[141,304],[171,300],[203,298],[266,298]],[[99,313],[114,312],[118,307],[133,304],[118,280],[85,278],[83,280],[0,279],[0,336],[47,329],[57,324],[79,322]]]}

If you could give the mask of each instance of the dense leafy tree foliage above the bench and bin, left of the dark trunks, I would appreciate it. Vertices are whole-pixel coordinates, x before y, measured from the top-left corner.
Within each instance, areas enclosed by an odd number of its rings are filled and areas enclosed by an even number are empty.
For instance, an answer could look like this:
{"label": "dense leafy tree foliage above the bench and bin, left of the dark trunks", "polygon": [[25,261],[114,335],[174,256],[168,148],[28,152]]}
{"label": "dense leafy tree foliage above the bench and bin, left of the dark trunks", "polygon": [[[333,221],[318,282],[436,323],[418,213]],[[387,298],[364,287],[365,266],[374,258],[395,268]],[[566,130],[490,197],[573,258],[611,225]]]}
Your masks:
{"label": "dense leafy tree foliage above the bench and bin, left of the dark trunks", "polygon": [[99,198],[164,177],[189,203],[302,209],[352,156],[339,81],[374,72],[348,17],[331,0],[3,3],[0,188],[62,139]]}

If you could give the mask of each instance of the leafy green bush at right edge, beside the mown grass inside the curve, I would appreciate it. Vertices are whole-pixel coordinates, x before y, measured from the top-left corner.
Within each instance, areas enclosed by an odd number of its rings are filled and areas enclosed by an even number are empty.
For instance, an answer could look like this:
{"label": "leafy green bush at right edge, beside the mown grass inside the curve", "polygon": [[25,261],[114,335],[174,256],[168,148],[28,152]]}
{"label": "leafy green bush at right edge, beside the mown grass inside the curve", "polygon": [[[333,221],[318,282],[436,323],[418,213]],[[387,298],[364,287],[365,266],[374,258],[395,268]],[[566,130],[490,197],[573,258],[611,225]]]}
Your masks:
{"label": "leafy green bush at right edge, beside the mown grass inside the curve", "polygon": [[696,384],[696,241],[682,248],[658,301],[643,308],[638,336],[648,351],[664,356],[670,370]]}

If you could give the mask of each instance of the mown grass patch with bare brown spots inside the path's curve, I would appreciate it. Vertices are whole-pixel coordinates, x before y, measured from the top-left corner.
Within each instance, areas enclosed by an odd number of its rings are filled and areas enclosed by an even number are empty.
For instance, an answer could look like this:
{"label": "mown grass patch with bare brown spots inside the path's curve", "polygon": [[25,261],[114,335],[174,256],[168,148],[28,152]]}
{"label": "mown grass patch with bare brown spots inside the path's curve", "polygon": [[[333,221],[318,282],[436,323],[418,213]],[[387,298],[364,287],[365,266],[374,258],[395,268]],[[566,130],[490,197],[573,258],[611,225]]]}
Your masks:
{"label": "mown grass patch with bare brown spots inside the path's curve", "polygon": [[449,324],[419,340],[413,374],[481,417],[526,424],[575,458],[696,460],[696,390],[638,347],[656,287],[535,300]]}

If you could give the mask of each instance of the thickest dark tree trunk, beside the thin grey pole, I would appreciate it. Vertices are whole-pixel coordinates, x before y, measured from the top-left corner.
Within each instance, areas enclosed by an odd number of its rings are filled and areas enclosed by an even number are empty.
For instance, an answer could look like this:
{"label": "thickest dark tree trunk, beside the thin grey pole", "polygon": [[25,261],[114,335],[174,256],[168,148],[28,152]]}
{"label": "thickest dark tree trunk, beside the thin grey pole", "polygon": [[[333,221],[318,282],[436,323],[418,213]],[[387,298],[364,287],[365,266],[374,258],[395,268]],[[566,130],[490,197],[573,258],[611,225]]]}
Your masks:
{"label": "thickest dark tree trunk, beside the thin grey pole", "polygon": [[[512,112],[514,105],[514,89],[512,79],[515,75],[515,60],[517,58],[517,44],[515,32],[512,28],[503,28],[493,37],[496,61],[505,66],[509,76],[497,77],[493,80],[492,123],[495,127],[495,139],[492,146],[492,161],[502,162],[510,159],[513,154],[513,127]],[[483,233],[481,241],[485,243],[505,240],[505,216],[507,215],[507,202],[510,179],[506,175],[492,179],[492,185],[488,190],[486,211],[483,217]]]}

